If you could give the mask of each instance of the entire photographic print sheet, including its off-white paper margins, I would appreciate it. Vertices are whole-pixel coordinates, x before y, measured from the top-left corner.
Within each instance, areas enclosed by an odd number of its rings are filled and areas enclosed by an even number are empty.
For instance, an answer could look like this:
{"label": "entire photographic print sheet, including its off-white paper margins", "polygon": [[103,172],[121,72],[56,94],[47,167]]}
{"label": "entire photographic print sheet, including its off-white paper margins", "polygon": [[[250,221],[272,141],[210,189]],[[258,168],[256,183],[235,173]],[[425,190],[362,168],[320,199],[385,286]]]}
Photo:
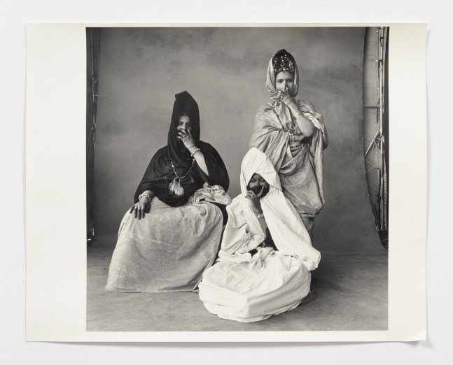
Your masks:
{"label": "entire photographic print sheet, including its off-white paper margins", "polygon": [[425,338],[425,37],[29,25],[27,341]]}

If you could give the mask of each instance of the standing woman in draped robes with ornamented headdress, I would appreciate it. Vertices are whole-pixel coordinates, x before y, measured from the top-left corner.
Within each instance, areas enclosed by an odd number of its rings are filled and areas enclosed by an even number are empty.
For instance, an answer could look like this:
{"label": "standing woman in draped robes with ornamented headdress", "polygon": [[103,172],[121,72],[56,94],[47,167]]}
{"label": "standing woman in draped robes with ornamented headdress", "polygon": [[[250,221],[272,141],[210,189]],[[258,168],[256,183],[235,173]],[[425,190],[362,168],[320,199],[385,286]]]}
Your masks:
{"label": "standing woman in draped robes with ornamented headdress", "polygon": [[296,100],[298,66],[279,50],[267,67],[270,101],[260,106],[249,147],[263,151],[277,170],[281,188],[313,240],[314,218],[324,204],[323,150],[328,145],[323,117],[308,101]]}

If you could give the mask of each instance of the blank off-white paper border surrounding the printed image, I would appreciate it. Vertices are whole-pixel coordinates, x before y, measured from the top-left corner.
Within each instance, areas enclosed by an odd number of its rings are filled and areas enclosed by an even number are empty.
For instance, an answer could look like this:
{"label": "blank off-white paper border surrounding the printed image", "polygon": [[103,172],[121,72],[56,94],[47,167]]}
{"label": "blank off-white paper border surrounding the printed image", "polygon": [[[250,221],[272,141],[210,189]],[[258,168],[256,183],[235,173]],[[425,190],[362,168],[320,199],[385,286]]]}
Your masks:
{"label": "blank off-white paper border surrounding the printed image", "polygon": [[[426,24],[303,24],[391,27],[388,331],[281,331],[275,336],[269,336],[268,331],[85,331],[85,26],[126,25],[130,24],[27,26],[27,341],[351,342],[426,338]],[[164,25],[281,26],[155,24]]]}

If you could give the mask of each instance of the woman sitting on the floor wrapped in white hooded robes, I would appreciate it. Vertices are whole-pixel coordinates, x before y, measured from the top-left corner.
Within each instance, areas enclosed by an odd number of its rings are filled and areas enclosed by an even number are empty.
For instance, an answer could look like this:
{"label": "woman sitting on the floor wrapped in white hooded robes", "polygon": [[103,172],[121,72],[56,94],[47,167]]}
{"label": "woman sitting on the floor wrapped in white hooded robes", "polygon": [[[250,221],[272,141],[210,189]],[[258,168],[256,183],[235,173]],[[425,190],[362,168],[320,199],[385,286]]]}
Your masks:
{"label": "woman sitting on the floor wrapped in white hooded robes", "polygon": [[321,255],[263,152],[246,153],[240,184],[242,194],[227,206],[218,262],[200,282],[200,299],[218,317],[254,322],[314,299],[310,271]]}

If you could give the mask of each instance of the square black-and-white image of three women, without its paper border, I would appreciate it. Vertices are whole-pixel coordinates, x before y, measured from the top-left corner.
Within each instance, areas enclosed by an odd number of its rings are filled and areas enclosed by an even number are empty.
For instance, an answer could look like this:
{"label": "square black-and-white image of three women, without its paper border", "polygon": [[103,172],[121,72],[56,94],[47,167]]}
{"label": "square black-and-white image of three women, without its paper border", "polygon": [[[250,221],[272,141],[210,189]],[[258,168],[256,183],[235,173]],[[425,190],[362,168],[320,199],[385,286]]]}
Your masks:
{"label": "square black-and-white image of three women, without its paper border", "polygon": [[392,27],[87,27],[86,331],[387,331]]}

